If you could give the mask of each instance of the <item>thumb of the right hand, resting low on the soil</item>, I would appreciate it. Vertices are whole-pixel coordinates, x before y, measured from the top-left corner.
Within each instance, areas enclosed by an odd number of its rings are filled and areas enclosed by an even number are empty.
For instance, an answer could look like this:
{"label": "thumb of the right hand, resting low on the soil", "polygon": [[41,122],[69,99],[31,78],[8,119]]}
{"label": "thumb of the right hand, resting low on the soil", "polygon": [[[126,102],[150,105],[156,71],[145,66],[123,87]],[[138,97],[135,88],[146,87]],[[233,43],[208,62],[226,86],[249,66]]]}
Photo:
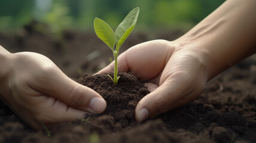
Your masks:
{"label": "thumb of the right hand, resting low on the soil", "polygon": [[199,94],[199,91],[190,88],[184,89],[184,86],[179,86],[179,84],[177,86],[176,84],[163,83],[139,101],[135,110],[135,118],[138,122],[142,122],[148,117],[156,117],[190,102]]}

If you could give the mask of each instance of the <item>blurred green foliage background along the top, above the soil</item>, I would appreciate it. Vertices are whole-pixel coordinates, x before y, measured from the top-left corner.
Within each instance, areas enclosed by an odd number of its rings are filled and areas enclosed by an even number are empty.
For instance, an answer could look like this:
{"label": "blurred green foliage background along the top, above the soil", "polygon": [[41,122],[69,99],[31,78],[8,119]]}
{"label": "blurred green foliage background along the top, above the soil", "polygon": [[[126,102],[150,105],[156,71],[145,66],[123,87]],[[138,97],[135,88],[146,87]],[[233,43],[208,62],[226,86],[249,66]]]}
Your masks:
{"label": "blurred green foliage background along the top, above the soil", "polygon": [[0,32],[16,32],[36,20],[52,32],[92,31],[99,17],[113,29],[135,7],[140,8],[136,31],[190,29],[224,0],[0,0]]}

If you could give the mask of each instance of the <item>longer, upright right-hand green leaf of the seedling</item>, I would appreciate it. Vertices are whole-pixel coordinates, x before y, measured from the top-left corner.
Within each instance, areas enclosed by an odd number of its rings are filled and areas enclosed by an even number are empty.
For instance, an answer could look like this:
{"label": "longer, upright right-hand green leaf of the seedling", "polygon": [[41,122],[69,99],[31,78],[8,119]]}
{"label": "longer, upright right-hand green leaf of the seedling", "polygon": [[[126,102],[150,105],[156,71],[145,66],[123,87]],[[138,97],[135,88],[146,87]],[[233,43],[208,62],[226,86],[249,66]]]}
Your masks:
{"label": "longer, upright right-hand green leaf of the seedling", "polygon": [[119,24],[117,29],[115,30],[115,42],[117,42],[117,49],[119,51],[121,45],[123,45],[126,38],[130,35],[133,28],[135,27],[136,21],[139,15],[139,8],[134,8],[130,11],[129,14],[126,15],[126,18]]}

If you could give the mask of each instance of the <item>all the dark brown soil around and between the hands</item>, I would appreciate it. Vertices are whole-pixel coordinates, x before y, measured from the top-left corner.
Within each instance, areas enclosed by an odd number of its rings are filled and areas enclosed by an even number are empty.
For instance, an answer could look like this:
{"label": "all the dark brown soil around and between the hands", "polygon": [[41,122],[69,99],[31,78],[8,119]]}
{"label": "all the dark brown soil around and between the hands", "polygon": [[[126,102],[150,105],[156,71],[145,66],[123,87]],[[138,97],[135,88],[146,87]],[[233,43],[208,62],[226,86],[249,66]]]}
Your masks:
{"label": "all the dark brown soil around and between the hands", "polygon": [[[196,100],[138,123],[136,104],[149,91],[130,73],[119,73],[117,86],[106,74],[90,75],[112,56],[94,33],[69,30],[56,41],[50,33],[33,30],[34,24],[40,23],[31,23],[14,35],[0,33],[0,45],[11,52],[46,55],[69,77],[99,92],[108,107],[102,114],[88,114],[50,129],[47,136],[46,130],[26,126],[0,101],[0,142],[256,142],[255,55],[208,82]],[[173,40],[182,33],[135,33],[122,50],[151,39]]]}

